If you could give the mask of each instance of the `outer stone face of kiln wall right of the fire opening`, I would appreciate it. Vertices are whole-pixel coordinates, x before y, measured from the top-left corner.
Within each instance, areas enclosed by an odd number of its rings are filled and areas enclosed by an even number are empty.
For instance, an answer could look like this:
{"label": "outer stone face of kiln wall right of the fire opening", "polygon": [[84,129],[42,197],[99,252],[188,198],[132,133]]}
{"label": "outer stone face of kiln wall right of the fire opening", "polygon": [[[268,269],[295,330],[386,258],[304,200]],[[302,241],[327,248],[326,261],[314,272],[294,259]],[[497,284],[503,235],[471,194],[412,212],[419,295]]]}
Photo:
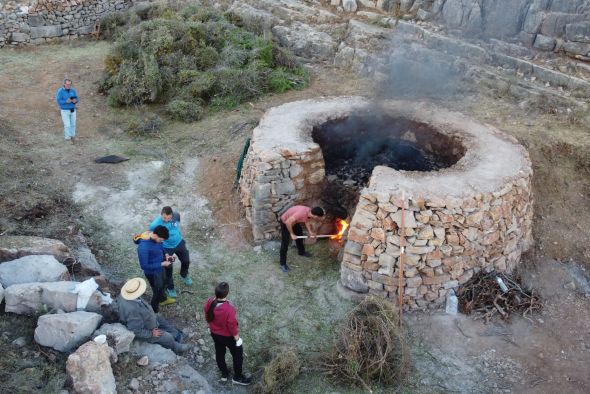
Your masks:
{"label": "outer stone face of kiln wall right of the fire opening", "polygon": [[[378,167],[372,177],[389,168]],[[351,221],[341,283],[359,293],[397,299],[401,192],[363,190]],[[406,198],[404,299],[437,307],[449,289],[479,270],[512,271],[532,242],[531,173],[497,191],[465,198]]]}

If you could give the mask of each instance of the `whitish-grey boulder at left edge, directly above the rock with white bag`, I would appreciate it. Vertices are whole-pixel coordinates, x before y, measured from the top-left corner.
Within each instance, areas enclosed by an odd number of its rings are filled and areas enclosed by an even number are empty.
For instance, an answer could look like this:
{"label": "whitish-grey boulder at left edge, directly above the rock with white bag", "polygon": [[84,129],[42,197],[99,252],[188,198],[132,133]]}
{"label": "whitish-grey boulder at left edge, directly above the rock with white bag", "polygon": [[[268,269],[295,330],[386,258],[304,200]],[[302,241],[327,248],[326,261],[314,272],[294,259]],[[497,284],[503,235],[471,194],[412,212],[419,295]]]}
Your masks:
{"label": "whitish-grey boulder at left edge, directly above the rock with white bag", "polygon": [[9,287],[19,283],[56,282],[68,278],[68,270],[53,256],[35,255],[0,264],[0,283]]}

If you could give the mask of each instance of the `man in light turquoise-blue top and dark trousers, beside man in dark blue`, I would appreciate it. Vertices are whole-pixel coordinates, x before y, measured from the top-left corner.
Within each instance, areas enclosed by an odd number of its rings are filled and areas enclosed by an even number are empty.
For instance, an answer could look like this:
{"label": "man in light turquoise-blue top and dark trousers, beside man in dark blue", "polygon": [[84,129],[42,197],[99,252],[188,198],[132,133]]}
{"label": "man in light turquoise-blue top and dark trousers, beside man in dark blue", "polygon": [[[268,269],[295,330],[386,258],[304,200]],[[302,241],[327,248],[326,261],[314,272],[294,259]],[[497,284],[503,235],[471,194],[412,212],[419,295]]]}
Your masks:
{"label": "man in light turquoise-blue top and dark trousers, beside man in dark blue", "polygon": [[[173,256],[175,254],[178,256],[178,259],[180,260],[180,277],[187,286],[192,285],[193,280],[188,276],[188,266],[191,263],[190,255],[186,248],[186,242],[184,242],[182,234],[180,233],[180,214],[178,212],[173,212],[171,207],[162,208],[160,216],[158,216],[150,225],[150,230],[153,231],[157,226],[164,226],[168,229],[170,237],[164,241],[164,251],[168,256]],[[177,294],[174,289],[174,279],[172,277],[172,264],[167,266],[165,271],[167,294],[169,297],[176,298]]]}

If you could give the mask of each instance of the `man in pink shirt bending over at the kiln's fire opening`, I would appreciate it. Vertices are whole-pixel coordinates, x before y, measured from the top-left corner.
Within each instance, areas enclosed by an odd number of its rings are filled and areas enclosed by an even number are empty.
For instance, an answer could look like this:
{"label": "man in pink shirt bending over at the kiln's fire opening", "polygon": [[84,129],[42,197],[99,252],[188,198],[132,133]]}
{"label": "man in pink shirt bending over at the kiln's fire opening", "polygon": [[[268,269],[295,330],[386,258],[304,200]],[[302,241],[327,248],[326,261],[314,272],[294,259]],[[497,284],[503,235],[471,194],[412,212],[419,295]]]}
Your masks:
{"label": "man in pink shirt bending over at the kiln's fire opening", "polygon": [[287,249],[291,240],[295,240],[297,245],[297,252],[299,256],[311,257],[311,254],[305,251],[303,239],[297,239],[298,235],[303,235],[301,223],[305,223],[307,233],[310,237],[315,237],[315,233],[311,229],[309,220],[317,219],[324,216],[324,209],[321,207],[309,208],[305,205],[295,205],[289,208],[281,215],[279,222],[281,223],[281,270],[289,272],[290,268],[287,265]]}

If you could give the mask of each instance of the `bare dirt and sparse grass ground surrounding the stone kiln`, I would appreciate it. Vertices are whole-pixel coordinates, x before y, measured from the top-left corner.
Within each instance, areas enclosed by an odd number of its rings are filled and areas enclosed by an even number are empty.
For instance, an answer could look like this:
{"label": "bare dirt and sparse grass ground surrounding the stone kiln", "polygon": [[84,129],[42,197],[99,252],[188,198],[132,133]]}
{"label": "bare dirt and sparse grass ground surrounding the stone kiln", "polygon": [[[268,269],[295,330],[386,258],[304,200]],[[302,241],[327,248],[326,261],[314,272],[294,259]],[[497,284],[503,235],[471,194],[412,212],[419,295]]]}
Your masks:
{"label": "bare dirt and sparse grass ground surrounding the stone kiln", "polygon": [[[105,42],[78,41],[0,51],[0,234],[67,241],[72,227],[79,227],[110,277],[124,280],[141,275],[130,234],[141,231],[162,205],[173,205],[183,215],[196,284],[191,289],[180,286],[179,303],[164,314],[180,326],[194,327],[207,341],[205,325],[195,323],[193,316],[215,283],[225,279],[240,310],[248,368],[259,374],[272,349],[284,344],[296,346],[312,361],[332,342],[352,306],[335,294],[338,264],[320,243],[311,248],[314,262],[293,257],[295,272],[286,277],[278,269],[276,243],[254,249],[233,189],[235,165],[266,109],[303,98],[367,94],[370,81],[318,67],[306,90],[268,96],[189,125],[165,121],[157,137],[132,136],[123,131],[127,122],[157,108],[106,106],[96,83],[108,48]],[[81,98],[76,144],[63,140],[53,99],[66,76]],[[554,114],[535,103],[493,94],[443,104],[516,136],[528,148],[535,171],[536,244],[522,273],[540,291],[545,308],[532,321],[514,317],[510,323],[488,325],[465,316],[406,315],[414,369],[410,381],[396,390],[590,391],[587,114]],[[93,162],[108,154],[130,160]],[[5,322],[9,318],[2,315]],[[34,327],[34,321],[22,324]],[[0,330],[6,337],[0,345],[13,350],[10,342],[18,333],[10,324]],[[31,354],[38,351],[32,338],[29,343]],[[26,376],[26,368],[11,369],[13,359],[2,354],[0,366],[14,372],[1,374],[1,382]],[[59,370],[63,359],[54,356],[46,362]],[[215,380],[214,363],[206,363],[200,372]],[[119,387],[129,378],[118,371]],[[42,382],[49,380],[39,379],[25,392],[46,392]],[[391,390],[376,387],[376,392]],[[358,389],[335,386],[309,371],[290,391]]]}

